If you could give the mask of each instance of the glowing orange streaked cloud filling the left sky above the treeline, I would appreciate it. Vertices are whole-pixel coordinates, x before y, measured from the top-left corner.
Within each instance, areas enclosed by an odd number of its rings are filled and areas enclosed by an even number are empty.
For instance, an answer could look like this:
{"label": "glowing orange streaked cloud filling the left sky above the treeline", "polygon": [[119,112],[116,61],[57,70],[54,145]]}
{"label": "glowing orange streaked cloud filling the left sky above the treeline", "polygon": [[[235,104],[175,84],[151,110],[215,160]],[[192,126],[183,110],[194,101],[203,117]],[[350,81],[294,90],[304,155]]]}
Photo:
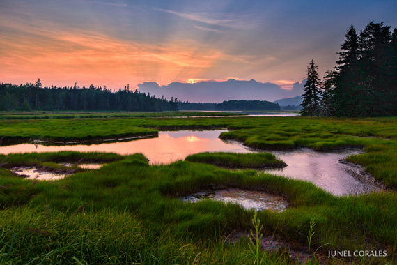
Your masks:
{"label": "glowing orange streaked cloud filling the left sky above the treeline", "polygon": [[[184,78],[180,73],[198,76],[217,61],[231,57],[192,40],[139,43],[49,22],[27,27],[13,21],[4,26],[14,32],[0,39],[2,76],[8,82],[21,78],[31,82],[40,77],[45,85],[56,79],[81,86],[102,80],[99,84],[116,88],[147,80],[164,84]],[[66,85],[65,81],[55,84]]]}

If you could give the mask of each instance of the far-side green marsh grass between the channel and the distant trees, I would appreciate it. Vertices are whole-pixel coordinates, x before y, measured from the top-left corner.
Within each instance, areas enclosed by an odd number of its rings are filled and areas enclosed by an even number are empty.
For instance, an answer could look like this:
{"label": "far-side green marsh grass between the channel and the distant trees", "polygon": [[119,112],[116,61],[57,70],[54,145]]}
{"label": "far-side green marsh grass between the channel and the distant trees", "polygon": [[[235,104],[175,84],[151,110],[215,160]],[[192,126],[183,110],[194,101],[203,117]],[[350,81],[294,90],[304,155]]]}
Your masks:
{"label": "far-side green marsh grass between the channel and the distant trees", "polygon": [[[206,113],[206,112],[205,112]],[[75,116],[78,116],[77,114]],[[366,119],[294,117],[29,119],[0,123],[3,144],[46,140],[89,142],[117,137],[157,135],[158,130],[228,128],[220,136],[258,149],[309,147],[318,151],[364,147],[348,160],[366,167],[375,179],[397,189],[397,123],[395,117]]]}

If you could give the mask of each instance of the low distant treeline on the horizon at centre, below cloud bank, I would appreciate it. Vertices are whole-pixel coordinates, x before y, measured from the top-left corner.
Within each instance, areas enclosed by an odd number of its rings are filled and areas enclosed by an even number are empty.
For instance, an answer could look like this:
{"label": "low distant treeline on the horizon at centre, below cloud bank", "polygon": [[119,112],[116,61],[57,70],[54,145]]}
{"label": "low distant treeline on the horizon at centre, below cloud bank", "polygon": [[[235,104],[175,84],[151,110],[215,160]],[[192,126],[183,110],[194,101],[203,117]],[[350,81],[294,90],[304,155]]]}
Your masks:
{"label": "low distant treeline on the horizon at centre, below cloud bank", "polygon": [[228,100],[222,103],[178,103],[180,110],[280,110],[277,103],[265,100]]}

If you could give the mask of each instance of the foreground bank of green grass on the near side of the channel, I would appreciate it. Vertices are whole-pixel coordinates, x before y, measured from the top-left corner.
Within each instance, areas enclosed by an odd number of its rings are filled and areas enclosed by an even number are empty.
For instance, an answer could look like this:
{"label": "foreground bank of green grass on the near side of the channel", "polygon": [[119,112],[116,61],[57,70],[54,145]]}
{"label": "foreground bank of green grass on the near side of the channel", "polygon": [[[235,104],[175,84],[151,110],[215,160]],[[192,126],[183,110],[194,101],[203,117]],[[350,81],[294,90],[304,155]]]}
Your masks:
{"label": "foreground bank of green grass on the near side of the channel", "polygon": [[[391,259],[397,239],[395,193],[334,197],[304,181],[194,162],[150,166],[143,156],[133,155],[60,181],[22,180],[2,172],[0,186],[4,187],[0,192],[2,242],[9,247],[14,233],[18,236],[10,255],[15,264],[32,257],[52,264],[71,262],[72,257],[99,264],[141,262],[140,258],[143,264],[189,264],[200,252],[198,264],[211,264],[212,259],[213,264],[252,264],[257,257],[250,255],[249,243],[236,250],[219,246],[219,239],[233,231],[249,231],[253,211],[210,200],[196,204],[178,200],[217,187],[286,197],[291,209],[261,211],[258,218],[264,234],[277,234],[297,248],[307,246],[313,218],[316,233],[311,248],[329,243],[323,252],[380,249],[387,250]],[[33,247],[43,242],[45,248]],[[189,254],[182,255],[178,251],[185,245]],[[8,247],[0,248],[6,253]],[[231,252],[235,252],[234,261],[226,257]],[[150,262],[152,255],[156,259]],[[279,258],[274,253],[261,255],[267,255],[267,262]]]}

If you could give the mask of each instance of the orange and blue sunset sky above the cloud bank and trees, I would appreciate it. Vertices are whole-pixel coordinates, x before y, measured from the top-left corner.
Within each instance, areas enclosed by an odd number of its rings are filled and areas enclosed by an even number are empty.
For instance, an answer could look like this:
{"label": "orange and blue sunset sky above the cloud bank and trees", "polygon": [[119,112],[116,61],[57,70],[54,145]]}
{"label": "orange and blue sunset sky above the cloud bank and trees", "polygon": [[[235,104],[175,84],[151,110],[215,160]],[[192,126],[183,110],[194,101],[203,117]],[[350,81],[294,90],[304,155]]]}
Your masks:
{"label": "orange and blue sunset sky above the cloud bank and trees", "polygon": [[351,24],[397,27],[397,1],[1,0],[0,82],[107,86],[302,81]]}

